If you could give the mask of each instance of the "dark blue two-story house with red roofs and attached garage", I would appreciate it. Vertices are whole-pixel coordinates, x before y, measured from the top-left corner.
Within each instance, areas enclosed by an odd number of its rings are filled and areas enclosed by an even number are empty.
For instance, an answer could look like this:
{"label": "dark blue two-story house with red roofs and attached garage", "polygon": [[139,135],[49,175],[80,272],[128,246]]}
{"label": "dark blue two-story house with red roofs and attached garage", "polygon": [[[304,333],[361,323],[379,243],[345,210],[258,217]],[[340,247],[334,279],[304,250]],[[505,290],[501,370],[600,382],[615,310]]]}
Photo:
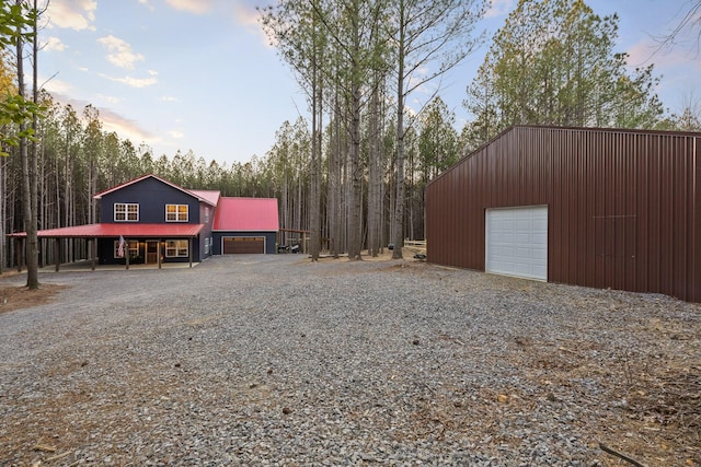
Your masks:
{"label": "dark blue two-story house with red roofs and attached garage", "polygon": [[89,256],[101,265],[192,265],[211,255],[276,253],[279,222],[273,198],[188,190],[152,174],[94,198],[100,201],[100,223],[43,230],[39,240],[85,238]]}

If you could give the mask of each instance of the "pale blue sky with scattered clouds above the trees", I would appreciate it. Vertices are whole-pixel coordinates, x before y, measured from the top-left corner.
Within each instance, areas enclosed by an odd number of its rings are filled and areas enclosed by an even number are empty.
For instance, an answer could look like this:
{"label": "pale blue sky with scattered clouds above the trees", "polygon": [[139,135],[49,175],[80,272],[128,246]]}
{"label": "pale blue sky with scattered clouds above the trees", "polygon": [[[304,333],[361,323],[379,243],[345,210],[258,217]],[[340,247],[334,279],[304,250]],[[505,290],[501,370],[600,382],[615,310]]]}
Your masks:
{"label": "pale blue sky with scattered clouds above the trees", "polygon": [[[157,159],[192,151],[219,164],[265,157],[287,120],[308,117],[294,73],[261,30],[256,7],[273,0],[50,0],[39,32],[39,83],[78,114],[96,107],[103,130]],[[517,0],[493,0],[478,25],[487,37]],[[657,94],[679,113],[701,95],[701,54],[694,43],[656,51],[693,0],[586,0],[599,15],[618,13],[616,51],[631,67],[655,65]],[[484,60],[483,46],[444,77],[439,94],[469,118],[466,87]],[[432,84],[436,86],[437,83]],[[420,108],[433,90],[418,90]]]}

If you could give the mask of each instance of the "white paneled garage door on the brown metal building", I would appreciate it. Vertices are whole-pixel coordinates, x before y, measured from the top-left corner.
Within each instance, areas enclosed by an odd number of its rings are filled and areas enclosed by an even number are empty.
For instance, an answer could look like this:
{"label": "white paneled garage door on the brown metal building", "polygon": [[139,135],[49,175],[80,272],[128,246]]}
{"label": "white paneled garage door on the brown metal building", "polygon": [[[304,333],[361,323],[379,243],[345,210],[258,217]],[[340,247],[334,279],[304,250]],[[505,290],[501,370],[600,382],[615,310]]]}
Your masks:
{"label": "white paneled garage door on the brown metal building", "polygon": [[548,280],[548,207],[486,210],[486,271]]}

